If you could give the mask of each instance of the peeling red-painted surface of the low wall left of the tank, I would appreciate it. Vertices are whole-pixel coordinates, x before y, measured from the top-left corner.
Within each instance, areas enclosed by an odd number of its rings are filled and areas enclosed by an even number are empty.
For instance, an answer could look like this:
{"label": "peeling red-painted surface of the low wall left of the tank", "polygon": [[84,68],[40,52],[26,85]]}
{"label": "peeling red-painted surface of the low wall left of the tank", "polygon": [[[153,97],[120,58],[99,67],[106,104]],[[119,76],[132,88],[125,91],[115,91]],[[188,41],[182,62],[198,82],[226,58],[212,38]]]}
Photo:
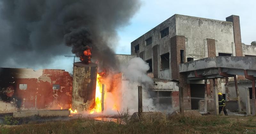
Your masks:
{"label": "peeling red-painted surface of the low wall left of the tank", "polygon": [[[66,71],[44,69],[39,78],[15,78],[12,97],[18,100],[21,109],[68,109],[72,101],[72,82]],[[27,84],[27,89],[19,89],[19,84]],[[53,90],[53,84],[60,85],[60,89]]]}

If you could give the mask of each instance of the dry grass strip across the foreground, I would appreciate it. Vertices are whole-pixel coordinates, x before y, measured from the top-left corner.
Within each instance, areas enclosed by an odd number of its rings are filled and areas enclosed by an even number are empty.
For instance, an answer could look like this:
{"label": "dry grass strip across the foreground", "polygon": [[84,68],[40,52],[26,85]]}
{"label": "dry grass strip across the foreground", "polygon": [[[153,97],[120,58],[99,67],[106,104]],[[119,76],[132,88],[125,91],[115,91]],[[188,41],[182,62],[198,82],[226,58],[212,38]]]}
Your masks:
{"label": "dry grass strip across the foreground", "polygon": [[3,134],[80,134],[80,133],[256,133],[255,116],[157,117],[144,116],[140,122],[114,123],[78,118],[69,121],[1,125]]}

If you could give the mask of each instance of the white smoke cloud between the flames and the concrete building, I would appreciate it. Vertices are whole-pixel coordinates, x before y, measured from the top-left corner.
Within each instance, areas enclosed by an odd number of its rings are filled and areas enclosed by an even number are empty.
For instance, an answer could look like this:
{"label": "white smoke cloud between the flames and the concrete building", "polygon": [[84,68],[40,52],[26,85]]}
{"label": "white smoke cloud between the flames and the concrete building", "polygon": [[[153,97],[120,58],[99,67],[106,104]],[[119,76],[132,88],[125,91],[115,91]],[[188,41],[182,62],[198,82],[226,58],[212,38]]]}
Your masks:
{"label": "white smoke cloud between the flames and the concrete building", "polygon": [[130,60],[126,68],[122,68],[126,80],[122,81],[122,108],[128,108],[131,112],[138,112],[138,78],[142,77],[142,105],[143,111],[155,110],[153,100],[149,98],[148,87],[153,80],[147,76],[148,64],[141,58],[136,57]]}

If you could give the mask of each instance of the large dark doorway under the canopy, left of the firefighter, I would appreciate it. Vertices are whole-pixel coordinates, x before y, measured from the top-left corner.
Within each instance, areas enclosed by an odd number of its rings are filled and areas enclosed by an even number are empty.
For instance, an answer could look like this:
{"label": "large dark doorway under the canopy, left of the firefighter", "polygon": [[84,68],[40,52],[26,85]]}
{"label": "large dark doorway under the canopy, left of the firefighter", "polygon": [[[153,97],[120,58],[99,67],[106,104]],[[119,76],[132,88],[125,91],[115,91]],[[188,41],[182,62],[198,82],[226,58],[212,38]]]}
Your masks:
{"label": "large dark doorway under the canopy, left of the firefighter", "polygon": [[199,100],[204,100],[204,84],[190,84],[191,109],[198,109]]}

